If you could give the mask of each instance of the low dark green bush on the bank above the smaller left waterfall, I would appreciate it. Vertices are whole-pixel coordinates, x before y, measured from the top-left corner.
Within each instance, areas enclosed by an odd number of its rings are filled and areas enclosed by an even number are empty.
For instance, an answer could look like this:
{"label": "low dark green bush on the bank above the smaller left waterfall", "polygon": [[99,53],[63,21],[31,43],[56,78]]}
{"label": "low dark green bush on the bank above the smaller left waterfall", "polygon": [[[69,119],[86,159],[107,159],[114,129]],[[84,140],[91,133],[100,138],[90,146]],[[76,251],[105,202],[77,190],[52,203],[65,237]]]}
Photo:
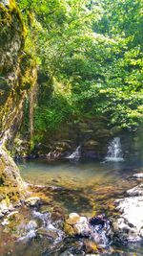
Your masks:
{"label": "low dark green bush on the bank above the smaller left waterfall", "polygon": [[68,97],[54,95],[47,104],[38,105],[35,111],[35,139],[41,140],[47,132],[54,132],[61,124],[72,120],[73,109]]}

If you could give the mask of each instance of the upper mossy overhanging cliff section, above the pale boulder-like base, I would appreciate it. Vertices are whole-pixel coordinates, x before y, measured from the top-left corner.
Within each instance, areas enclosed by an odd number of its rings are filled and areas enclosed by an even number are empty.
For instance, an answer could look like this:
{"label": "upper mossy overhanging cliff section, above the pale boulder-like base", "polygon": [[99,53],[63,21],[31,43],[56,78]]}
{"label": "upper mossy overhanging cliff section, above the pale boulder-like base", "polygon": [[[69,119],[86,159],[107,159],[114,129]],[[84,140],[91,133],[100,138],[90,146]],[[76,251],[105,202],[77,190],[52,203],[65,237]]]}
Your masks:
{"label": "upper mossy overhanging cliff section, above the pale boulder-like base", "polygon": [[21,125],[24,101],[36,81],[35,63],[24,52],[26,29],[13,0],[0,3],[0,133],[7,140]]}

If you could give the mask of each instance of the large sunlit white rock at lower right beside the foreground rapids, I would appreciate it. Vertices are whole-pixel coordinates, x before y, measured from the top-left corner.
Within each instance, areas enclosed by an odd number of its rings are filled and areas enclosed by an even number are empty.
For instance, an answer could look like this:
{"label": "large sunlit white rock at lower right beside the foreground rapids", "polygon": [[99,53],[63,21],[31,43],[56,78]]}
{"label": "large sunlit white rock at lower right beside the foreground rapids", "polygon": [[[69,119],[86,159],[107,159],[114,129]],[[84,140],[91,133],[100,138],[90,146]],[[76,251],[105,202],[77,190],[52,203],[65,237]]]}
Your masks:
{"label": "large sunlit white rock at lower right beside the foreground rapids", "polygon": [[115,236],[121,241],[137,242],[142,238],[143,197],[123,198],[115,201],[121,213],[113,223]]}

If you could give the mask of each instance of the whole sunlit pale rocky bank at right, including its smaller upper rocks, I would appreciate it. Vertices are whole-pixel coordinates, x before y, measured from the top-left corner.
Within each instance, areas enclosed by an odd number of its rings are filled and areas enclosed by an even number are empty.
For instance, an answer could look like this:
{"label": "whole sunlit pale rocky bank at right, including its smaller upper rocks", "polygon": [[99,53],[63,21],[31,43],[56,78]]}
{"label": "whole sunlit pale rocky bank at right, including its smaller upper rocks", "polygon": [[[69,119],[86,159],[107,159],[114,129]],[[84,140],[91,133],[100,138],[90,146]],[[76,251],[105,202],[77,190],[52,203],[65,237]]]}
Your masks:
{"label": "whole sunlit pale rocky bank at right, including its smaller upper rocks", "polygon": [[127,191],[126,198],[116,199],[120,217],[113,222],[114,237],[123,242],[139,242],[143,239],[143,174],[135,174],[141,183]]}

